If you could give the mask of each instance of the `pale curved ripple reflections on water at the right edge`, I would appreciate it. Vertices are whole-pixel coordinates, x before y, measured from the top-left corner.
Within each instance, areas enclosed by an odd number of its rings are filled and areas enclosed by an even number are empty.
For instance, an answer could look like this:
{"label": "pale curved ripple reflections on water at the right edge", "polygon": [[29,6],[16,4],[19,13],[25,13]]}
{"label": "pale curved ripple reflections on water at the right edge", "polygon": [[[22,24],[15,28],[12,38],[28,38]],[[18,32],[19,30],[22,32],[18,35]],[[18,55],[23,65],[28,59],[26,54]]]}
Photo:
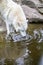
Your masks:
{"label": "pale curved ripple reflections on water at the right edge", "polygon": [[33,31],[33,36],[34,36],[34,39],[37,39],[38,43],[43,42],[43,29],[42,28],[39,30],[35,29]]}

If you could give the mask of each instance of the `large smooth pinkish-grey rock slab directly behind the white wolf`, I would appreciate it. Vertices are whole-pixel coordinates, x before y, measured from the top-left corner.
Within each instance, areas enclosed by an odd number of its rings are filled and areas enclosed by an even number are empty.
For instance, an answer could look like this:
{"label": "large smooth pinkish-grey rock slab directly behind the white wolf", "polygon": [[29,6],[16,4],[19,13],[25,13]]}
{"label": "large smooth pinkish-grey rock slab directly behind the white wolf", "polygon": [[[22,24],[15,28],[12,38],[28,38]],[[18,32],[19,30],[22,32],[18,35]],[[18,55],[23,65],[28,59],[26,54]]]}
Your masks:
{"label": "large smooth pinkish-grey rock slab directly behind the white wolf", "polygon": [[25,12],[26,17],[32,22],[32,21],[43,21],[43,15],[41,15],[36,9],[30,8],[27,5],[22,5],[22,8]]}

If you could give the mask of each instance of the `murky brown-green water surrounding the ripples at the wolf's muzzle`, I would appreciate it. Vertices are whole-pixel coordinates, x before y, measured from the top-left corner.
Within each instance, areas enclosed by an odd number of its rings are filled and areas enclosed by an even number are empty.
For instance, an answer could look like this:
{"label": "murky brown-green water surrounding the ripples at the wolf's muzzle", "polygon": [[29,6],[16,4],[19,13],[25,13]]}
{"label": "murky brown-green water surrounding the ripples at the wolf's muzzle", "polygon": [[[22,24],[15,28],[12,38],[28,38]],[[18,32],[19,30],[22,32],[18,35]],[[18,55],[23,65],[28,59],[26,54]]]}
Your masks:
{"label": "murky brown-green water surrounding the ripples at the wolf's muzzle", "polygon": [[[29,24],[27,32],[43,28],[43,24]],[[33,39],[30,42],[6,41],[5,32],[0,33],[0,65],[43,65],[43,42]]]}

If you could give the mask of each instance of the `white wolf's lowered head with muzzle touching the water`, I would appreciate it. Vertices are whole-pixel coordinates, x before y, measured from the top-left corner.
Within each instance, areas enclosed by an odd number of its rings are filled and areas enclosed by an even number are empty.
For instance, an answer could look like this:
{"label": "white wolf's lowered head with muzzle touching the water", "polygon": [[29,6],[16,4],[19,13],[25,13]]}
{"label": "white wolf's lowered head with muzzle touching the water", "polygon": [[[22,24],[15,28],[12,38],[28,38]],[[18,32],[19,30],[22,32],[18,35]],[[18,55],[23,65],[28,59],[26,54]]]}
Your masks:
{"label": "white wolf's lowered head with muzzle touching the water", "polygon": [[13,22],[14,23],[14,27],[15,27],[15,30],[16,32],[20,32],[20,34],[24,37],[26,36],[26,30],[28,28],[28,21],[24,21],[22,23],[18,23],[18,22]]}

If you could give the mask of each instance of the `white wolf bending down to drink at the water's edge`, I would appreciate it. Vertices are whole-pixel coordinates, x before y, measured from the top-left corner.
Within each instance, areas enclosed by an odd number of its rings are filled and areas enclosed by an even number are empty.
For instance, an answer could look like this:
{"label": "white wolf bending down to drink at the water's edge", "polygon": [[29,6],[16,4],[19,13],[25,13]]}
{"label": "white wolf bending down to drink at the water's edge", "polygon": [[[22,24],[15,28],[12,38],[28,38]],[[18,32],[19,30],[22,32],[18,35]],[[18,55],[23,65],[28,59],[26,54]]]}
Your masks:
{"label": "white wolf bending down to drink at the water's edge", "polygon": [[[22,7],[12,0],[0,0],[0,13],[6,23],[7,36],[13,31],[19,32],[22,36],[26,36],[28,23]],[[12,32],[13,32],[12,31]]]}

